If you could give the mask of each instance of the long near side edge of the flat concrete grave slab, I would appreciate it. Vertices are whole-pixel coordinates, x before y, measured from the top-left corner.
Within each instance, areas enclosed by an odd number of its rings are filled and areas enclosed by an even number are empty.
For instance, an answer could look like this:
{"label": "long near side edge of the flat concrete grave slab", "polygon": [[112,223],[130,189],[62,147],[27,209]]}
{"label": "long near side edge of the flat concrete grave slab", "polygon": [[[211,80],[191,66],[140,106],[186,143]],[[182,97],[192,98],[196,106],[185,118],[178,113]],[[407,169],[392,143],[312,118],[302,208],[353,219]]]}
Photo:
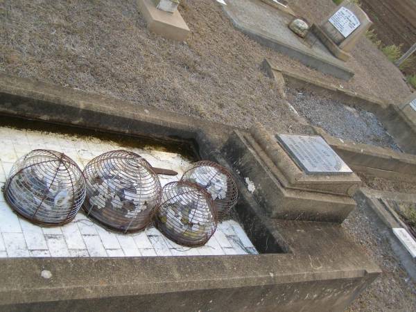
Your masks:
{"label": "long near side edge of the flat concrete grave slab", "polygon": [[265,33],[259,33],[252,29],[246,28],[245,26],[242,26],[238,19],[235,19],[232,15],[229,14],[229,12],[227,12],[226,8],[223,8],[223,10],[227,17],[231,19],[234,27],[245,35],[248,35],[248,37],[250,37],[252,40],[257,41],[264,46],[268,46],[271,49],[275,49],[280,53],[288,55],[289,57],[294,58],[306,66],[312,67],[313,69],[317,69],[322,73],[327,73],[328,75],[334,76],[336,78],[349,80],[354,76],[354,72],[345,66],[336,64],[335,62],[322,58],[319,55],[314,55],[307,51],[297,49],[295,46],[291,46],[286,42],[275,40],[275,38],[269,37]]}

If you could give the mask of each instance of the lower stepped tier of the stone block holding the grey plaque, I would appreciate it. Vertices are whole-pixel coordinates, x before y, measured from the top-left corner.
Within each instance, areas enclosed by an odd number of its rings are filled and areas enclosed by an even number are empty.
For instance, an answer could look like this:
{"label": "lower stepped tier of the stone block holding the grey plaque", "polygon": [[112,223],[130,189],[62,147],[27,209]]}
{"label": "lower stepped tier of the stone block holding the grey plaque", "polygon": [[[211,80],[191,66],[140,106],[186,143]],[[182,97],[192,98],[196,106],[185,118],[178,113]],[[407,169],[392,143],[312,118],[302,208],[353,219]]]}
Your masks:
{"label": "lower stepped tier of the stone block holding the grey plaque", "polygon": [[254,141],[250,137],[235,131],[225,144],[223,153],[269,216],[342,223],[356,207],[349,196],[284,187],[274,173],[274,166],[266,164],[250,144]]}

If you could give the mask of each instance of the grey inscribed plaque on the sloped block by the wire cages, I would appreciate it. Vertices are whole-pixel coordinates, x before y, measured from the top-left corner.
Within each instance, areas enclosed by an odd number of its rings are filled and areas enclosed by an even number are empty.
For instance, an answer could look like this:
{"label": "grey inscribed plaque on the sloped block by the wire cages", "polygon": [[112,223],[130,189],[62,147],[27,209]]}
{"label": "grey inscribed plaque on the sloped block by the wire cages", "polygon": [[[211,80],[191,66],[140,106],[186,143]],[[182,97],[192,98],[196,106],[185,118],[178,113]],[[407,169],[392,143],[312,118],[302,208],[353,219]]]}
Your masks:
{"label": "grey inscribed plaque on the sloped block by the wire cages", "polygon": [[353,172],[322,137],[276,135],[276,138],[305,173],[333,175]]}

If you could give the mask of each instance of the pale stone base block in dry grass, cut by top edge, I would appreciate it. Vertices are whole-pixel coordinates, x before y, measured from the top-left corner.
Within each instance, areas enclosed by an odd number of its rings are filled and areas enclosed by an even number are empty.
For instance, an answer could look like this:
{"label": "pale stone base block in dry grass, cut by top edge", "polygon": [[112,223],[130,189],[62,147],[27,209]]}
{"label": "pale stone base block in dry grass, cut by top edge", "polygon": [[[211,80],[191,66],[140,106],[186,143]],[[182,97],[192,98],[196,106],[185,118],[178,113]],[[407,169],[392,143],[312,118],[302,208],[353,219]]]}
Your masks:
{"label": "pale stone base block in dry grass, cut by top edge", "polygon": [[173,13],[158,10],[152,0],[137,0],[137,6],[150,32],[175,41],[187,39],[189,28],[177,10]]}

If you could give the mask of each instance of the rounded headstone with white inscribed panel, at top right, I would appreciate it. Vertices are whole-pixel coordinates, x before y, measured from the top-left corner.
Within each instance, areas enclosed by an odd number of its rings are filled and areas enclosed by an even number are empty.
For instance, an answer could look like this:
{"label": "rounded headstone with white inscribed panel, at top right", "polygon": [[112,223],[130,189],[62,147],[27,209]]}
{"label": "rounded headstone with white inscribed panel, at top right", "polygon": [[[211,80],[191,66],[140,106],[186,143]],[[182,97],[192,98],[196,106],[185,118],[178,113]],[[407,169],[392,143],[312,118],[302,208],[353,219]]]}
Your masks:
{"label": "rounded headstone with white inscribed panel, at top right", "polygon": [[320,25],[311,30],[340,60],[349,60],[350,52],[372,25],[367,14],[350,0],[343,1]]}

